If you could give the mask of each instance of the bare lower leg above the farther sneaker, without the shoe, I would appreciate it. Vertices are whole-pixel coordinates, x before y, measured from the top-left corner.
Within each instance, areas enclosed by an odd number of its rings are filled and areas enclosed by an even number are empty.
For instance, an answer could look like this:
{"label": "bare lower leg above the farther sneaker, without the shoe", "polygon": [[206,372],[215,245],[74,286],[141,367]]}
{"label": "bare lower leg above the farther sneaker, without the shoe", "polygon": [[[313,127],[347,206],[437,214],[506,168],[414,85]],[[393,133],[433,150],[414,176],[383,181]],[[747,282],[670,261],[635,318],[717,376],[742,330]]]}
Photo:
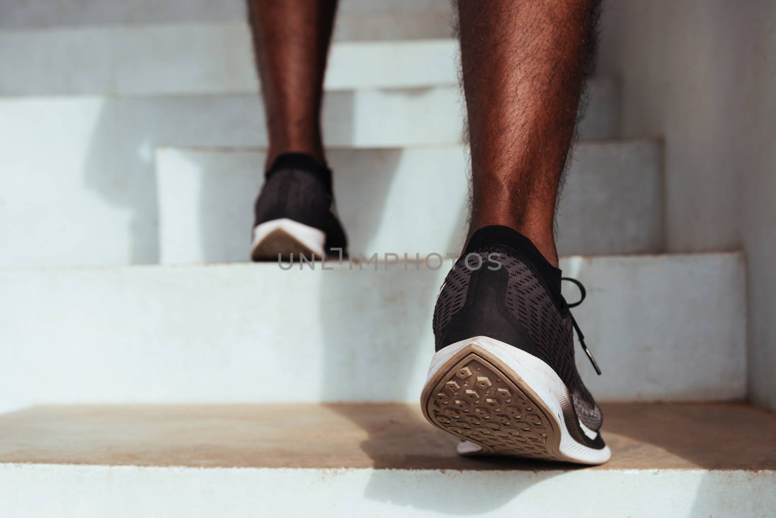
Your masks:
{"label": "bare lower leg above the farther sneaker, without the shoe", "polygon": [[325,164],[320,101],[337,0],[248,0],[269,149]]}

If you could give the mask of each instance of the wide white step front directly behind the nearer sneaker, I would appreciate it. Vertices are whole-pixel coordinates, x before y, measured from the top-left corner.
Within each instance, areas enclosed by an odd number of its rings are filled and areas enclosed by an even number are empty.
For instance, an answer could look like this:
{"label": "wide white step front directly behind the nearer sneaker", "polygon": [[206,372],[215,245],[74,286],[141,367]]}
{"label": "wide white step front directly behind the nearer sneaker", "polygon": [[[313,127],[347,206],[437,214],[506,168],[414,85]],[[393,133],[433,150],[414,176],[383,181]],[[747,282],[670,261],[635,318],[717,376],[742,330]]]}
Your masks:
{"label": "wide white step front directly behind the nearer sneaker", "polygon": [[[47,402],[415,402],[451,262],[376,265],[2,270],[0,411]],[[587,286],[574,315],[604,375],[584,354],[577,363],[598,399],[743,399],[739,254],[566,257],[561,268]]]}

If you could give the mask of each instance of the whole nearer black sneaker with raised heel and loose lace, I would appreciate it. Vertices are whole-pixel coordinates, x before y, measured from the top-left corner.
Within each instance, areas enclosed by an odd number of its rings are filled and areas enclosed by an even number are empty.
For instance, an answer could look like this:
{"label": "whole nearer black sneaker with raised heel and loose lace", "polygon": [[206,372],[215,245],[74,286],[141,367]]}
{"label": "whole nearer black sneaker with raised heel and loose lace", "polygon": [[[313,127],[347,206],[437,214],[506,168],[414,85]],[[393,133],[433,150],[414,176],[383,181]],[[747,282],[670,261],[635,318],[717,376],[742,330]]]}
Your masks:
{"label": "whole nearer black sneaker with raised heel and loose lace", "polygon": [[445,278],[421,406],[431,424],[464,439],[460,454],[583,464],[611,457],[601,409],[574,363],[573,330],[601,371],[560,282],[560,270],[506,226],[477,230]]}

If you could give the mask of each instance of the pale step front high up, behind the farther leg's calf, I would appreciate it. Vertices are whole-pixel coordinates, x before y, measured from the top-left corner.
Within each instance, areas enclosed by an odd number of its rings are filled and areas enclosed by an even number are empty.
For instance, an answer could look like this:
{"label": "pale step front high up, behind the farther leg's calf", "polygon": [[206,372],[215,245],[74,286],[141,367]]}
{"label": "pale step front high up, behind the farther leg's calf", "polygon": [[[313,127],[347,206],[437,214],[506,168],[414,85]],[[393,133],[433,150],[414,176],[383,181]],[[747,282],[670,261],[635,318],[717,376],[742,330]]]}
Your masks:
{"label": "pale step front high up, behind the farther leg's calf", "polygon": [[[334,43],[326,88],[458,85],[452,39]],[[0,31],[0,95],[258,92],[247,22]]]}

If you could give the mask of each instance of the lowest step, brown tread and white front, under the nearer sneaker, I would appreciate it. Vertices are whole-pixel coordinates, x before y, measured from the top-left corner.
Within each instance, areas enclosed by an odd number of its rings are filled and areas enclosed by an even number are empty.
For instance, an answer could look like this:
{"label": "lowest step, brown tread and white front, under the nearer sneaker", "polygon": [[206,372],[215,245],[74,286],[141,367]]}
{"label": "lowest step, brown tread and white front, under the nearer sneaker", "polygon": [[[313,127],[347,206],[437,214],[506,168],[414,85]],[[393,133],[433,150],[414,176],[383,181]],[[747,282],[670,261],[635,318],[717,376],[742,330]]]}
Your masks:
{"label": "lowest step, brown tread and white front, under the nearer sneaker", "polygon": [[0,416],[0,502],[16,518],[771,516],[773,414],[604,412],[611,461],[580,469],[459,458],[417,405],[44,406]]}

